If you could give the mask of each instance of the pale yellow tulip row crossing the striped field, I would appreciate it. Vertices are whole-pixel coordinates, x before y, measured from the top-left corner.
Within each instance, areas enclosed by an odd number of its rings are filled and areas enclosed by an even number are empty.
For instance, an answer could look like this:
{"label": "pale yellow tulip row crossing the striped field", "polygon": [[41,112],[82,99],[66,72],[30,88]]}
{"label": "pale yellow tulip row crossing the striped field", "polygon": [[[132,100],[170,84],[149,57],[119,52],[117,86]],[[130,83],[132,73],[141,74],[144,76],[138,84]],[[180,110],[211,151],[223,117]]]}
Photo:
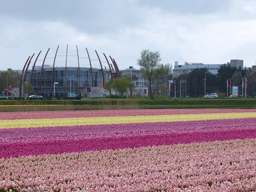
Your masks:
{"label": "pale yellow tulip row crossing the striped field", "polygon": [[241,112],[241,113],[216,113],[216,114],[183,114],[183,115],[179,114],[179,115],[154,115],[154,116],[0,120],[0,129],[48,127],[48,126],[53,127],[53,126],[75,126],[75,125],[144,123],[144,122],[175,122],[175,121],[237,119],[237,118],[255,118],[255,117],[256,117],[256,112]]}

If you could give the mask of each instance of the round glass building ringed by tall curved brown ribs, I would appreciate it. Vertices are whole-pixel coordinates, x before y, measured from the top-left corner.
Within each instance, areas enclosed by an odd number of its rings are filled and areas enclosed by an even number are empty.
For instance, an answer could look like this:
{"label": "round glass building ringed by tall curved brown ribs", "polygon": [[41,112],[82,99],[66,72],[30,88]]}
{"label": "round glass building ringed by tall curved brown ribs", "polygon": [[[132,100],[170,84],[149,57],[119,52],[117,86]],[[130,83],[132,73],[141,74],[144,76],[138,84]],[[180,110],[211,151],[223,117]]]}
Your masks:
{"label": "round glass building ringed by tall curved brown ribs", "polygon": [[76,54],[70,54],[67,45],[62,52],[58,46],[52,56],[49,52],[50,48],[26,60],[20,76],[20,96],[26,95],[23,87],[27,84],[34,88],[33,94],[43,97],[90,97],[92,93],[101,97],[101,85],[120,78],[114,58],[104,53],[100,58],[96,50],[90,55],[87,48],[78,52],[76,46]]}

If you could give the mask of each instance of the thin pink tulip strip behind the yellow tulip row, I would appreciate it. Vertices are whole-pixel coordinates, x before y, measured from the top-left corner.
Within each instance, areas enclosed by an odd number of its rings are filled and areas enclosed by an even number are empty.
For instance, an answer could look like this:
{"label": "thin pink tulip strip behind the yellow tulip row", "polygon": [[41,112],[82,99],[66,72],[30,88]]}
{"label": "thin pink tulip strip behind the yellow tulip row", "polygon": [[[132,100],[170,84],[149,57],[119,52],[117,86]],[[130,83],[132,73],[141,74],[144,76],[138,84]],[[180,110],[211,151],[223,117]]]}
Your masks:
{"label": "thin pink tulip strip behind the yellow tulip row", "polygon": [[133,109],[1,112],[0,120],[256,112],[256,109]]}

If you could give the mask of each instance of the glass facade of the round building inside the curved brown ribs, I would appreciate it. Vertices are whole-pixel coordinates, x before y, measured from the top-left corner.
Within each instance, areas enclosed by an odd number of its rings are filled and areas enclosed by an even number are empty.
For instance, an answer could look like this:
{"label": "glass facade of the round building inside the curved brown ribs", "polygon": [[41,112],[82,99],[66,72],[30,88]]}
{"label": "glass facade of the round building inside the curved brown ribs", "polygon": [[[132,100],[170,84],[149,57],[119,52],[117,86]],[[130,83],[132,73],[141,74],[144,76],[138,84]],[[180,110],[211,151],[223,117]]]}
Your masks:
{"label": "glass facade of the round building inside the curved brown ribs", "polygon": [[[104,82],[111,80],[110,70],[103,70]],[[101,69],[90,68],[55,68],[52,76],[52,68],[44,68],[40,81],[41,69],[31,70],[26,73],[26,79],[34,88],[35,95],[43,97],[78,97],[87,92],[89,87],[100,87],[103,80]],[[91,78],[93,79],[91,81]],[[79,81],[80,79],[80,81]],[[41,84],[40,84],[41,83]],[[53,84],[52,84],[53,83]],[[55,95],[54,95],[54,90]],[[79,92],[80,88],[80,92]]]}

